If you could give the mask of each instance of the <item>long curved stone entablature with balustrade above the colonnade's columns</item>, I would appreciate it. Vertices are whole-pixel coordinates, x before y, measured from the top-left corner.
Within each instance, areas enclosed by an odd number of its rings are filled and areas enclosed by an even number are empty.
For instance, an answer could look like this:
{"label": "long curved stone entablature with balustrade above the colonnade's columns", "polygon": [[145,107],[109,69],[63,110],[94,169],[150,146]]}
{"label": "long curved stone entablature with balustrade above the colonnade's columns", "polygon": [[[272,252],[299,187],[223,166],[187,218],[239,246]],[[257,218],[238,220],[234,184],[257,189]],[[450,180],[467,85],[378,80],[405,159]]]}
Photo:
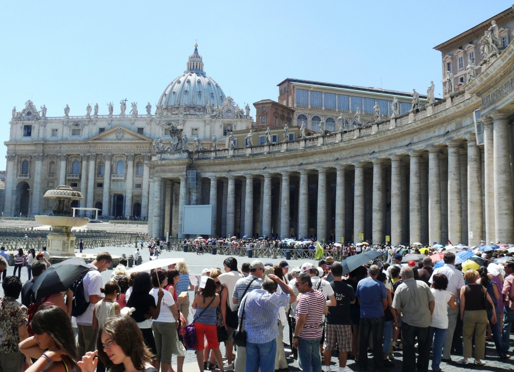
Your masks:
{"label": "long curved stone entablature with balustrade above the colonnade's columns", "polygon": [[472,114],[479,108],[478,97],[461,91],[417,113],[350,131],[247,148],[162,151],[152,155],[150,166],[158,177],[179,176],[190,169],[225,177],[371,162],[469,138],[475,134]]}

